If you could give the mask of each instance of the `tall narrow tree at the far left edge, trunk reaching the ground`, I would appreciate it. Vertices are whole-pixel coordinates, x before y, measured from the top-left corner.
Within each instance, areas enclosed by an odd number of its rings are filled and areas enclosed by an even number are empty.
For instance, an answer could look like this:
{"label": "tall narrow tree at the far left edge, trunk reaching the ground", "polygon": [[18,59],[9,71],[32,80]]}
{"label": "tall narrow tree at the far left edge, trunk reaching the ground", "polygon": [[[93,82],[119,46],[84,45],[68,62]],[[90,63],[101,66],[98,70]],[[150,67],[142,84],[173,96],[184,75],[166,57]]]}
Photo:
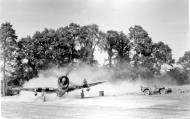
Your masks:
{"label": "tall narrow tree at the far left edge, trunk reaching the ground", "polygon": [[[4,74],[4,86],[5,92],[4,95],[7,95],[6,85],[9,77],[11,77],[11,73],[13,72],[13,65],[16,56],[17,49],[17,36],[15,34],[15,30],[12,28],[10,23],[1,24],[0,28],[0,42],[1,42],[1,56],[3,56],[4,66],[3,66],[3,74]],[[2,58],[2,57],[1,57]]]}

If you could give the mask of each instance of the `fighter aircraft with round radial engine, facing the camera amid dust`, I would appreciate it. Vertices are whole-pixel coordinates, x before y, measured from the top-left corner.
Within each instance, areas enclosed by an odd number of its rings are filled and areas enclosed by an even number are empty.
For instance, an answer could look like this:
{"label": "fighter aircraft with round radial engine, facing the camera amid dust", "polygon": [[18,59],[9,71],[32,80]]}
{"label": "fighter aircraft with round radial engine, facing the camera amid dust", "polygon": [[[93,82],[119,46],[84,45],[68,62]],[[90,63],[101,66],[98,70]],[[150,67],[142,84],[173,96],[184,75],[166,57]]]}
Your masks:
{"label": "fighter aircraft with round radial engine, facing the camera amid dust", "polygon": [[86,79],[84,79],[82,85],[71,85],[69,78],[67,75],[61,76],[58,78],[58,88],[51,88],[51,87],[35,87],[35,88],[13,88],[13,90],[20,90],[20,91],[31,91],[34,92],[34,95],[37,96],[37,93],[42,93],[43,101],[45,101],[45,93],[56,93],[58,97],[62,97],[68,92],[82,89],[81,98],[84,97],[83,89],[90,91],[90,87],[102,84],[102,82],[95,82],[95,83],[87,83]]}

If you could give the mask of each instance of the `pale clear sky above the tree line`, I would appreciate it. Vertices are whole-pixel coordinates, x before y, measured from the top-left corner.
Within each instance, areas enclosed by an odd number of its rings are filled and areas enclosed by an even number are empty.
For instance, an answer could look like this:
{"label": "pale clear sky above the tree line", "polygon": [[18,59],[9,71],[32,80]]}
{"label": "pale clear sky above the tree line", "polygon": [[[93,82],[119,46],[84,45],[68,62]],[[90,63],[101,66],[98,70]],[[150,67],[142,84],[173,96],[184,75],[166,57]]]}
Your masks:
{"label": "pale clear sky above the tree line", "polygon": [[188,0],[0,0],[4,22],[11,22],[19,38],[71,22],[126,34],[141,25],[153,42],[168,44],[175,59],[190,50]]}

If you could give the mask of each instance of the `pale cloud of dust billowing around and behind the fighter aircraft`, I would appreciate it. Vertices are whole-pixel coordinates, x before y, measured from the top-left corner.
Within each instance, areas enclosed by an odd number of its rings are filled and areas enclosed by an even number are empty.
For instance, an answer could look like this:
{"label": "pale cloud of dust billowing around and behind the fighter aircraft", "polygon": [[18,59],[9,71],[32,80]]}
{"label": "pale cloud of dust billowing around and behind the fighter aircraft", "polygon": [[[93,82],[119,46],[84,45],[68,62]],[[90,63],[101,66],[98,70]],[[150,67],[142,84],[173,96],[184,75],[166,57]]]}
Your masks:
{"label": "pale cloud of dust billowing around and behind the fighter aircraft", "polygon": [[[91,87],[90,92],[85,92],[86,97],[96,97],[99,95],[99,91],[104,91],[106,96],[124,95],[129,93],[137,94],[140,92],[140,86],[153,86],[153,85],[165,85],[165,81],[159,79],[144,80],[142,77],[137,77],[135,80],[132,78],[132,72],[130,67],[127,70],[120,70],[118,77],[118,71],[110,70],[104,67],[89,66],[86,64],[76,64],[74,66],[68,65],[65,68],[51,68],[49,70],[41,71],[39,77],[31,79],[24,84],[24,88],[34,87],[53,87],[57,88],[57,80],[59,76],[67,75],[70,79],[71,85],[82,85],[83,80],[86,79],[88,83],[94,83],[98,81],[105,81],[105,83]],[[125,74],[125,75],[123,75]],[[168,84],[171,84],[168,81]],[[81,90],[76,90],[65,95],[61,99],[65,98],[80,98]],[[34,96],[31,92],[21,92],[21,99],[30,101],[38,101],[41,96]],[[56,94],[47,94],[48,100],[58,100],[59,97]]]}

